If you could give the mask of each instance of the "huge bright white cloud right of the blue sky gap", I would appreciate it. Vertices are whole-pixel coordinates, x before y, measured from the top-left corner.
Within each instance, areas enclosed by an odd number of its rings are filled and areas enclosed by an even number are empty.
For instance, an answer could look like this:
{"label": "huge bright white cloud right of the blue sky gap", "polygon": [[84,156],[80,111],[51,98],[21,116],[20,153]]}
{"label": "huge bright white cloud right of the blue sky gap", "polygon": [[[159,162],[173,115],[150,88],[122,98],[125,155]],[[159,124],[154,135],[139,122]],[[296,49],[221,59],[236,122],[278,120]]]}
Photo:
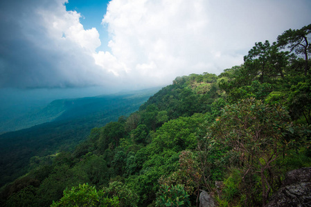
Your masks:
{"label": "huge bright white cloud right of the blue sky gap", "polygon": [[152,85],[190,73],[219,74],[240,65],[256,41],[275,41],[283,31],[308,24],[306,4],[113,0],[103,24],[112,37],[109,55],[130,69],[124,75]]}

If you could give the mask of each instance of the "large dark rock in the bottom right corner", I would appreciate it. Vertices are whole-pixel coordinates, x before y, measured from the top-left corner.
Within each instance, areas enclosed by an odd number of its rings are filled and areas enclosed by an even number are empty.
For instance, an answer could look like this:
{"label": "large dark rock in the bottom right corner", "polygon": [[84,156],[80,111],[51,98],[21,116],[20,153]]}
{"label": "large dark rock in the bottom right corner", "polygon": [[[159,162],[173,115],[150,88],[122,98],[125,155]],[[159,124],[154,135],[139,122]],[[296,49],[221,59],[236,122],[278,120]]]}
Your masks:
{"label": "large dark rock in the bottom right corner", "polygon": [[282,186],[267,207],[311,206],[311,168],[287,172]]}

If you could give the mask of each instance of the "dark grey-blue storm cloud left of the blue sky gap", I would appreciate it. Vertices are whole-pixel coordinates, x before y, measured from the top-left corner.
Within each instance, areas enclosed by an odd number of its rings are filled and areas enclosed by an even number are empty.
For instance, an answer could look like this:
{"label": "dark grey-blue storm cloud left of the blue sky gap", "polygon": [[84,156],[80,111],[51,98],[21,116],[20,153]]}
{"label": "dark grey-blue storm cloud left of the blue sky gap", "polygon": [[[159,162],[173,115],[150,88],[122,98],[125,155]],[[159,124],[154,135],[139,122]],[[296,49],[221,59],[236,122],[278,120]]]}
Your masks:
{"label": "dark grey-blue storm cloud left of the blue sky gap", "polygon": [[96,28],[85,30],[80,14],[64,0],[1,2],[0,87],[108,86],[114,75],[97,66]]}

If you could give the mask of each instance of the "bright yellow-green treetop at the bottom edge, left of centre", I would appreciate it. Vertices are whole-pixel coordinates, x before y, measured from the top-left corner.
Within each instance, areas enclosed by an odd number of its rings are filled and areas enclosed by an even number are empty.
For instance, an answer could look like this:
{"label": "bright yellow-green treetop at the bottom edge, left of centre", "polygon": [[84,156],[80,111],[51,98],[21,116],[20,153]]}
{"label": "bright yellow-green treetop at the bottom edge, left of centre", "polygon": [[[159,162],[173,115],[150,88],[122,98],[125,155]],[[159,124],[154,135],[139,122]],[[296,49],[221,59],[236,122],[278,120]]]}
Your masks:
{"label": "bright yellow-green treetop at the bottom edge, left of centre", "polygon": [[51,207],[57,206],[119,206],[118,197],[105,197],[103,190],[96,190],[95,186],[82,184],[72,187],[71,190],[64,190],[64,196],[60,201],[54,202]]}

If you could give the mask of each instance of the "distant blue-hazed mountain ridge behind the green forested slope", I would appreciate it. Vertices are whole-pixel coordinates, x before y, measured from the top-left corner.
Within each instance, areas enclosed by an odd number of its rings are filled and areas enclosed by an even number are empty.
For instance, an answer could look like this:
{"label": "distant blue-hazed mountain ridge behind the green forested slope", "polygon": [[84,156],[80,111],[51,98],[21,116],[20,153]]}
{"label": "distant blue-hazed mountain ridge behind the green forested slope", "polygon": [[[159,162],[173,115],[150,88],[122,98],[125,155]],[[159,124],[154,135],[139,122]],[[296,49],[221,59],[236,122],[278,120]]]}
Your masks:
{"label": "distant blue-hazed mountain ridge behind the green forested slope", "polygon": [[46,123],[0,135],[0,186],[27,172],[30,157],[71,150],[92,128],[130,115],[159,89],[52,101],[23,120]]}

